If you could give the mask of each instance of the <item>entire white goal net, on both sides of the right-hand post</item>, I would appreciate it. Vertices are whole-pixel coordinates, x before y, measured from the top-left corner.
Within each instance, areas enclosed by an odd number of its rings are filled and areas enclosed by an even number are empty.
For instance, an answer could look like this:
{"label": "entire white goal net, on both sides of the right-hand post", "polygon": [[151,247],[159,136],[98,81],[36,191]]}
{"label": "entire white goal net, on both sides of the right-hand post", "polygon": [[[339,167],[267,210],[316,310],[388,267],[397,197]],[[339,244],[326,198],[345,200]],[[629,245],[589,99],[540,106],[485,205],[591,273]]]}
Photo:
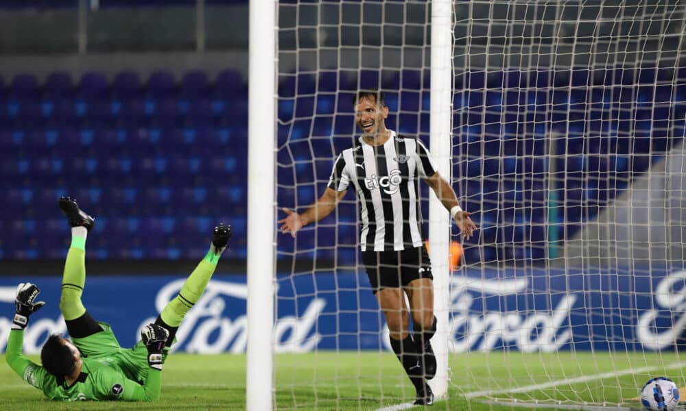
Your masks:
{"label": "entire white goal net, on both sides of the right-hand post", "polygon": [[[451,149],[429,150],[451,157],[445,177],[480,229],[464,241],[453,225],[452,255],[432,254],[434,264],[459,257],[436,336],[447,339],[440,360],[451,372],[434,407],[628,409],[649,377],[686,385],[686,5],[452,6]],[[316,201],[359,136],[351,97],[360,88],[383,90],[386,125],[429,145],[440,109],[430,104],[431,14],[426,1],[278,3],[279,219],[281,208]],[[414,400],[348,191],[295,238],[276,234],[276,408]]]}

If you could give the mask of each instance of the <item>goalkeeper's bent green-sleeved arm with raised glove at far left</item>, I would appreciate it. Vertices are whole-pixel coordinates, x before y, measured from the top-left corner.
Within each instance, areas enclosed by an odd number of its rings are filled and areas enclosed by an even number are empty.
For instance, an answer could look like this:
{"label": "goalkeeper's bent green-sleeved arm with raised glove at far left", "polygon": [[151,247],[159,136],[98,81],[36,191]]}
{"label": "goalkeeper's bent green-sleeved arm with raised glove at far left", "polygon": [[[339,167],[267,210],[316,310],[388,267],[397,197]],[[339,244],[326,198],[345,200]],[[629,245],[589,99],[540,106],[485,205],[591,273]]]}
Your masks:
{"label": "goalkeeper's bent green-sleeved arm with raised glove at far left", "polygon": [[23,355],[24,328],[29,323],[29,316],[45,305],[43,301],[34,301],[40,290],[34,284],[21,283],[16,287],[14,297],[14,318],[12,331],[5,350],[5,361],[19,377],[32,386],[41,388],[43,377],[47,374],[42,366],[32,362]]}

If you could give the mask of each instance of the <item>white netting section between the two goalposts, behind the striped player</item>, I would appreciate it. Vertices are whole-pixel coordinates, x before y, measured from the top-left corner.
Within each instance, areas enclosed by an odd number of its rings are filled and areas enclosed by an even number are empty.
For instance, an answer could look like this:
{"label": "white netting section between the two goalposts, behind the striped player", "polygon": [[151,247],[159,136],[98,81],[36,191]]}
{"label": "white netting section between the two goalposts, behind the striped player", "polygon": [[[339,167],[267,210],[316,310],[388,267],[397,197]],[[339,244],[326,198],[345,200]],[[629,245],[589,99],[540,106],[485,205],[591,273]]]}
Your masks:
{"label": "white netting section between the two goalposts, behind the striped player", "polygon": [[[333,160],[359,135],[351,98],[360,88],[386,92],[390,129],[428,141],[429,12],[415,1],[279,3],[279,207],[303,212],[322,195]],[[277,240],[276,311],[302,327],[283,339],[295,341],[290,351],[309,352],[294,362],[276,356],[277,406],[366,409],[414,399],[387,351],[359,256],[359,204],[348,191],[327,219]]]}

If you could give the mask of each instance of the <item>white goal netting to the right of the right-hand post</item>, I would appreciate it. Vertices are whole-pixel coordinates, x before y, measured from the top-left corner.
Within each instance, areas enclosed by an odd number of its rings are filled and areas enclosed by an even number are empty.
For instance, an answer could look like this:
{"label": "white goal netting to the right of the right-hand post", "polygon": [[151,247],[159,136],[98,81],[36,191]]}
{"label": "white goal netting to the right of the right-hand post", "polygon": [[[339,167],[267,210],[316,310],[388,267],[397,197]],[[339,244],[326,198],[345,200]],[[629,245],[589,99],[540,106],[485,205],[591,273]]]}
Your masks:
{"label": "white goal netting to the right of the right-hand post", "polygon": [[683,386],[683,3],[453,11],[453,175],[482,227],[453,278],[453,383],[625,406],[649,376]]}

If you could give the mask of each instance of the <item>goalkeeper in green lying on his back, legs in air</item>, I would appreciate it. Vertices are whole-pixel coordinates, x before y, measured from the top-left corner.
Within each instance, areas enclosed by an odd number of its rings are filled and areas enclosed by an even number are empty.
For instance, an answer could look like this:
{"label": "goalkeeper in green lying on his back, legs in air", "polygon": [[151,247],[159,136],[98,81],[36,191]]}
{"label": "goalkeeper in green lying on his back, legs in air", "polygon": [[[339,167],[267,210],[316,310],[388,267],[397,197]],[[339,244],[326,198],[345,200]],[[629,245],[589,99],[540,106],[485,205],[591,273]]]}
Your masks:
{"label": "goalkeeper in green lying on his back, legs in air", "polygon": [[38,287],[22,283],[16,288],[14,321],[5,360],[15,373],[42,390],[49,399],[156,401],[160,397],[162,365],[169,347],[182,319],[200,299],[214,273],[231,237],[230,226],[215,227],[208,253],[178,295],[169,301],[154,323],[145,326],[137,345],[123,349],[110,326],[95,321],[81,302],[86,279],[86,235],[95,220],[69,197],[62,197],[58,203],[71,225],[71,247],[64,264],[60,297],[60,311],[71,340],[57,334],[49,336],[40,351],[42,366],[23,356],[23,329],[29,316],[45,303],[36,301]]}

